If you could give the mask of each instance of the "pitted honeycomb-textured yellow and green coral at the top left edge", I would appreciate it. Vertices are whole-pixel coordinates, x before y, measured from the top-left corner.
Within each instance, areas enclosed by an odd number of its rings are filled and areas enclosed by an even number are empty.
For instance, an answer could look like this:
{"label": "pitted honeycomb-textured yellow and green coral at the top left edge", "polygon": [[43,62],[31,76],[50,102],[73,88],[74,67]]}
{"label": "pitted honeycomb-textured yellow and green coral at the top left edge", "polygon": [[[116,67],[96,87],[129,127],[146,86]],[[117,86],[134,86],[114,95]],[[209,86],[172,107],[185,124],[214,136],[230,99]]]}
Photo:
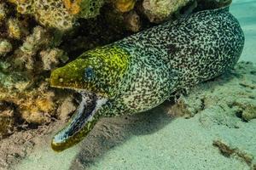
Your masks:
{"label": "pitted honeycomb-textured yellow and green coral at the top left edge", "polygon": [[20,14],[32,14],[43,26],[68,30],[77,18],[92,18],[99,14],[102,0],[9,0]]}

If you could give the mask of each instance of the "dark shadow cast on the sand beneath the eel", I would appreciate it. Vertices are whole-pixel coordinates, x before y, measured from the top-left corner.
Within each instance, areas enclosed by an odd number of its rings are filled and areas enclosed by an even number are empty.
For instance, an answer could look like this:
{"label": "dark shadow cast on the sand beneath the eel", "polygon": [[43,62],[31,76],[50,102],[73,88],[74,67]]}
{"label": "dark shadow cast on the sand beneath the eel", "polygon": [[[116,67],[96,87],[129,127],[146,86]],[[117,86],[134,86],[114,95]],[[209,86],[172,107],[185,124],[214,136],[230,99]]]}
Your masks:
{"label": "dark shadow cast on the sand beneath the eel", "polygon": [[135,135],[147,135],[159,131],[172,122],[168,115],[171,102],[166,102],[151,111],[132,116],[103,118],[80,144],[80,152],[73,160],[71,170],[89,169],[97,159],[113,147],[123,144]]}

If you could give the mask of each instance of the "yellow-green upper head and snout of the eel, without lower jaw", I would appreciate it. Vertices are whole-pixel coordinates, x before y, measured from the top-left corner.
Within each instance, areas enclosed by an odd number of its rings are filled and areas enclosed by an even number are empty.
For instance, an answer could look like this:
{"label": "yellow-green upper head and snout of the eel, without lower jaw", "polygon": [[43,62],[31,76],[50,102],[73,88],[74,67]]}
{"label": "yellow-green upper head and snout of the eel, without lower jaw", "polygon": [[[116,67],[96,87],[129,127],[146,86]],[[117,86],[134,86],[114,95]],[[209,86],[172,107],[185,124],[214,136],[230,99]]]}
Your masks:
{"label": "yellow-green upper head and snout of the eel, without lower jaw", "polygon": [[108,97],[128,66],[129,54],[107,46],[90,50],[51,73],[50,85],[102,94]]}

